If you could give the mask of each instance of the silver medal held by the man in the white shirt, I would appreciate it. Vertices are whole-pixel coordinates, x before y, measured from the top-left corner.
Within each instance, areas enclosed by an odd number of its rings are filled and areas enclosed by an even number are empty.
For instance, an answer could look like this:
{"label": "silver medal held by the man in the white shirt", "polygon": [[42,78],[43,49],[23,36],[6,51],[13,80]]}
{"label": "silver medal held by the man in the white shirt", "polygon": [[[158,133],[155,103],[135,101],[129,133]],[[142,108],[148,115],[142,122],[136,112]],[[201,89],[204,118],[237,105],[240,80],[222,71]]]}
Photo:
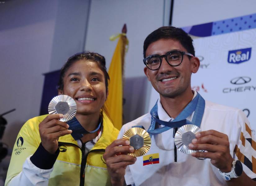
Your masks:
{"label": "silver medal held by the man in the white shirt", "polygon": [[195,134],[200,132],[201,129],[192,124],[184,125],[180,127],[174,137],[174,143],[179,151],[185,154],[191,154],[196,152],[188,147],[192,143],[192,139],[195,139]]}

